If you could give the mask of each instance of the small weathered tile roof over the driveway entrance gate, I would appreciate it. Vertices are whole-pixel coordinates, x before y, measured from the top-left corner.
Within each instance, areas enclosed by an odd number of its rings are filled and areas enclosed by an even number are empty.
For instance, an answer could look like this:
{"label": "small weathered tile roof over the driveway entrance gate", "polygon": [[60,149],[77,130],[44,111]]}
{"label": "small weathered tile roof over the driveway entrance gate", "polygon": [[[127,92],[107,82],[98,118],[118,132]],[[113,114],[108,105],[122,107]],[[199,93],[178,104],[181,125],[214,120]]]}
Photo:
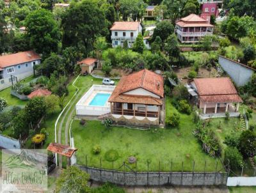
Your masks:
{"label": "small weathered tile roof over the driveway entrance gate", "polygon": [[73,153],[77,151],[76,148],[71,148],[70,146],[60,143],[50,143],[47,147],[47,150],[52,151],[53,153],[64,155],[66,157],[72,157]]}

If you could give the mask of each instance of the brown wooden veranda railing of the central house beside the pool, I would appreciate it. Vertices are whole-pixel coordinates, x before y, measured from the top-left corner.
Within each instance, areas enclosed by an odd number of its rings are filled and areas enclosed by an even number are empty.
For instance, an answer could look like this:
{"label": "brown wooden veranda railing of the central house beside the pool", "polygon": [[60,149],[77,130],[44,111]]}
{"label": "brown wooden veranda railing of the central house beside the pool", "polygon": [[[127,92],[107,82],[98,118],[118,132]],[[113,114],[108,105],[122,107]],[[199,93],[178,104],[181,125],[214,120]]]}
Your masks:
{"label": "brown wooden veranda railing of the central house beside the pool", "polygon": [[112,108],[111,113],[129,115],[129,116],[143,116],[143,117],[150,117],[150,118],[158,118],[158,112],[154,112],[154,111],[134,111],[132,109]]}

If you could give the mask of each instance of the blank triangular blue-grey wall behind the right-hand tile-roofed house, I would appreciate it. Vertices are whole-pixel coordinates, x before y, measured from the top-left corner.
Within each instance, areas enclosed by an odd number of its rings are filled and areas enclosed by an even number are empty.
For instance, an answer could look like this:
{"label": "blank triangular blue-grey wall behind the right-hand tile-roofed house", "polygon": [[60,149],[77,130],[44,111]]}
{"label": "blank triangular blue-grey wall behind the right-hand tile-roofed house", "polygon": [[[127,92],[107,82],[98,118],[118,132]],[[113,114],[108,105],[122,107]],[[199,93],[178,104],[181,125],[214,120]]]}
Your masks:
{"label": "blank triangular blue-grey wall behind the right-hand tile-roofed house", "polygon": [[244,86],[250,81],[253,72],[255,72],[252,68],[223,56],[219,56],[219,64],[223,70],[228,73],[232,78],[232,81],[234,81],[237,86]]}

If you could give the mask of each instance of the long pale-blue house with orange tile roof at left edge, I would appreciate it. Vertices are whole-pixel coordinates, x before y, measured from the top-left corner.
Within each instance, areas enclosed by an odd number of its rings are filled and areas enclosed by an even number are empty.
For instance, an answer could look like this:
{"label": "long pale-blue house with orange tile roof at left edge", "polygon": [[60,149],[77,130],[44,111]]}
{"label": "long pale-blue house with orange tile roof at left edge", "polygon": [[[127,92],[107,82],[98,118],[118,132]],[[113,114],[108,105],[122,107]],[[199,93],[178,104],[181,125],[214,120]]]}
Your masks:
{"label": "long pale-blue house with orange tile roof at left edge", "polygon": [[40,61],[41,57],[33,50],[0,56],[0,89],[33,75],[33,66]]}

